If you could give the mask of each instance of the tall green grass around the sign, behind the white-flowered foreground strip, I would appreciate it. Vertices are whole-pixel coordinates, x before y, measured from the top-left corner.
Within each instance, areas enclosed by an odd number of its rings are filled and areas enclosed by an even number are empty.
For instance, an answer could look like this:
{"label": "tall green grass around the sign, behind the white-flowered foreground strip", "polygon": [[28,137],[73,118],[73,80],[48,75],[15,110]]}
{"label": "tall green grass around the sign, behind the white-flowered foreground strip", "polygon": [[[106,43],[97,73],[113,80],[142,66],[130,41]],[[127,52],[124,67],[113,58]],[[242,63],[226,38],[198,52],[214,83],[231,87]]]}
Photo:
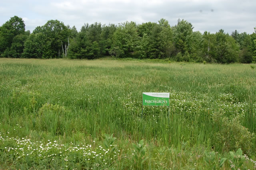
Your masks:
{"label": "tall green grass around the sign, behind the white-flowered foreground strip", "polygon": [[[142,92],[170,93],[170,115],[144,107],[141,118]],[[246,64],[0,59],[0,131],[11,137],[102,140],[113,133],[155,146],[214,147],[213,114],[241,115],[241,125],[256,132],[255,95],[256,71]]]}

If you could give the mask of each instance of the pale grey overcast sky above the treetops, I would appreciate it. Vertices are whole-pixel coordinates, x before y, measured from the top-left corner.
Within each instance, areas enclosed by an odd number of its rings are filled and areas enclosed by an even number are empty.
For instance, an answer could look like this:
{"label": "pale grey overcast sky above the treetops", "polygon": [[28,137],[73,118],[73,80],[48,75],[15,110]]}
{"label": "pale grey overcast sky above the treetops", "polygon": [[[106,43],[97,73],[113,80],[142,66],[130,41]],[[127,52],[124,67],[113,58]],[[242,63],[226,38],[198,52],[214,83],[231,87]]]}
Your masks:
{"label": "pale grey overcast sky above the treetops", "polygon": [[84,23],[141,24],[164,18],[174,26],[180,18],[202,33],[223,29],[252,34],[256,0],[1,0],[0,25],[15,15],[23,18],[31,32],[48,20],[60,20],[79,31]]}

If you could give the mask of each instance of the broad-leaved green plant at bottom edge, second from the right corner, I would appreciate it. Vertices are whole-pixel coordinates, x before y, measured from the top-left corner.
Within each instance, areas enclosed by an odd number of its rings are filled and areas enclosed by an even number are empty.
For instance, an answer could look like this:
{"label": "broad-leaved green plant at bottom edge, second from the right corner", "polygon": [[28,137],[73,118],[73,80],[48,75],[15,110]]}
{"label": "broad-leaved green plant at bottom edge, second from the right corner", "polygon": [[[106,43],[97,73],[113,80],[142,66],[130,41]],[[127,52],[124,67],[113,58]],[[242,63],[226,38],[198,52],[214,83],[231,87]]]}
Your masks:
{"label": "broad-leaved green plant at bottom edge, second from the right corner", "polygon": [[221,168],[224,164],[224,162],[227,160],[227,158],[221,158],[220,154],[218,152],[204,152],[204,162],[206,165],[212,169],[215,170],[217,168]]}

